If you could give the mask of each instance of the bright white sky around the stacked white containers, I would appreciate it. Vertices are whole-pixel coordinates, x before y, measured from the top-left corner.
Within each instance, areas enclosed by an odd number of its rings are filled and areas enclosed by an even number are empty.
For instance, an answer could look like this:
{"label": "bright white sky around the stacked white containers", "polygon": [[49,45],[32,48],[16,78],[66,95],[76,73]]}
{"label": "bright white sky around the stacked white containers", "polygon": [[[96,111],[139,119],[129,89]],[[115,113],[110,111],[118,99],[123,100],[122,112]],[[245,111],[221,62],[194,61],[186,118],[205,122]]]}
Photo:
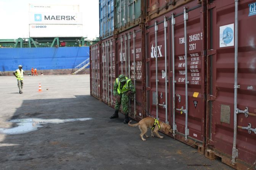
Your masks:
{"label": "bright white sky around the stacked white containers", "polygon": [[0,0],[0,39],[29,37],[29,4],[79,5],[83,37],[99,37],[98,0]]}

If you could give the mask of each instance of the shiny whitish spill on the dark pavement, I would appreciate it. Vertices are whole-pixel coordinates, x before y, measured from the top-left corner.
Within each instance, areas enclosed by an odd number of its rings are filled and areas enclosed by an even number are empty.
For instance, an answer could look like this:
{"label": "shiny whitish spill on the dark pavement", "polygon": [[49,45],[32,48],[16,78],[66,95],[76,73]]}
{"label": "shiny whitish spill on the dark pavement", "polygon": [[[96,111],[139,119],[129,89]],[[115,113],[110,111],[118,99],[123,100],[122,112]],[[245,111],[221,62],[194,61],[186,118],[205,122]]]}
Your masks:
{"label": "shiny whitish spill on the dark pavement", "polygon": [[39,127],[43,127],[42,124],[60,124],[65,122],[74,121],[87,121],[92,118],[77,118],[77,119],[13,119],[9,122],[16,123],[18,126],[12,128],[0,128],[0,134],[16,135],[21,133],[28,133],[37,130]]}

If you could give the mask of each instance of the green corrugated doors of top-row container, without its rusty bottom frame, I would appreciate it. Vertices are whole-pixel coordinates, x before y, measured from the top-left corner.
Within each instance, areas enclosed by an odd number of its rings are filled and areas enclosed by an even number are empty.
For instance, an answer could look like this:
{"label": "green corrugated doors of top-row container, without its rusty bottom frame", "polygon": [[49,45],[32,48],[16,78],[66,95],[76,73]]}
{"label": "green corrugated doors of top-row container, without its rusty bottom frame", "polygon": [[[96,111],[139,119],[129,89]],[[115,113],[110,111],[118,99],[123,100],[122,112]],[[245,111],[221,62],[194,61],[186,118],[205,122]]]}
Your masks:
{"label": "green corrugated doors of top-row container, without its rusty bottom frame", "polygon": [[[120,6],[121,4],[121,6]],[[126,27],[141,17],[141,0],[115,0],[115,29]]]}

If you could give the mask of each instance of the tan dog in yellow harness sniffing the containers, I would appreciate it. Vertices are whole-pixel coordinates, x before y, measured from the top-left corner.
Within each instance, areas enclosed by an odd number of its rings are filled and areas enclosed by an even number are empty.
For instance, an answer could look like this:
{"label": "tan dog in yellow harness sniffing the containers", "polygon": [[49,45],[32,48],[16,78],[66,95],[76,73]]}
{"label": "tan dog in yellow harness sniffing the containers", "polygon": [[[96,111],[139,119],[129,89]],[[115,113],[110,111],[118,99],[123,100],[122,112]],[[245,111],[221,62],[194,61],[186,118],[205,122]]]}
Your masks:
{"label": "tan dog in yellow harness sniffing the containers", "polygon": [[171,129],[170,125],[160,122],[160,121],[156,120],[155,118],[147,117],[147,118],[141,119],[136,124],[130,124],[130,122],[128,123],[128,126],[130,126],[130,127],[138,126],[139,127],[140,132],[141,132],[140,137],[143,141],[146,140],[145,138],[143,138],[143,135],[145,135],[146,138],[148,138],[148,135],[146,135],[148,128],[151,129],[152,137],[155,137],[155,135],[154,135],[154,133],[155,133],[157,137],[163,138],[163,136],[160,136],[158,133],[159,129],[163,130],[166,134],[168,134],[169,132],[172,133],[172,129]]}

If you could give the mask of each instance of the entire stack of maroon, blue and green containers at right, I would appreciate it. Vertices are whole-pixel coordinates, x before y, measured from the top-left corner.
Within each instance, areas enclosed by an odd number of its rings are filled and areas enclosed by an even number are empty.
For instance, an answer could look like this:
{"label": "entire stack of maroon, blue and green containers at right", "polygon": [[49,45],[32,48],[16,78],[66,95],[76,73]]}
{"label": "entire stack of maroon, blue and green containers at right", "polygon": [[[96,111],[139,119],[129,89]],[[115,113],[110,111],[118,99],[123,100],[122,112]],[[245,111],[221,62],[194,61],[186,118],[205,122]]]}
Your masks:
{"label": "entire stack of maroon, blue and green containers at right", "polygon": [[255,167],[255,6],[251,0],[100,0],[91,95],[114,107],[113,82],[124,74],[136,88],[131,118],[153,116],[172,126],[167,135],[209,159]]}

